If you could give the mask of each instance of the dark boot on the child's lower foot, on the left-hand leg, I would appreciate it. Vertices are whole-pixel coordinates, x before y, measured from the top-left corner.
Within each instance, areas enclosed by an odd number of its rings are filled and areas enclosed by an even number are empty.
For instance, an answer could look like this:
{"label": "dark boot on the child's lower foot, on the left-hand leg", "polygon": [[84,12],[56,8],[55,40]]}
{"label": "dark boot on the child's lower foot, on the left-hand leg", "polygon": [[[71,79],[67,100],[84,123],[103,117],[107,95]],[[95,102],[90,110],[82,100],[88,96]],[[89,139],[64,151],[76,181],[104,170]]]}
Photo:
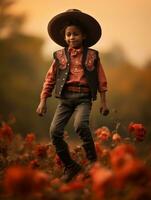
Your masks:
{"label": "dark boot on the child's lower foot, on the left-hand leg", "polygon": [[81,171],[82,167],[72,160],[68,149],[57,152],[57,154],[65,166],[64,175],[61,180],[69,182]]}

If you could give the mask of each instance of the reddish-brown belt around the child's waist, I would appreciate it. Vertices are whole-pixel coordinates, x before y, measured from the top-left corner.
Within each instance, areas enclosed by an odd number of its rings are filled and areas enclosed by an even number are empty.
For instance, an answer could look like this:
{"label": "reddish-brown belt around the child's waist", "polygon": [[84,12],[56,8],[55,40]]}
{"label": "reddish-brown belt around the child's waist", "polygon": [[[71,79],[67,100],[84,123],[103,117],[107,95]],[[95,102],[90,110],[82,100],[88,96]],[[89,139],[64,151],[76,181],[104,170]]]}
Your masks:
{"label": "reddish-brown belt around the child's waist", "polygon": [[66,90],[71,91],[71,92],[78,92],[78,93],[89,93],[90,89],[86,86],[72,86],[72,85],[66,85],[65,87]]}

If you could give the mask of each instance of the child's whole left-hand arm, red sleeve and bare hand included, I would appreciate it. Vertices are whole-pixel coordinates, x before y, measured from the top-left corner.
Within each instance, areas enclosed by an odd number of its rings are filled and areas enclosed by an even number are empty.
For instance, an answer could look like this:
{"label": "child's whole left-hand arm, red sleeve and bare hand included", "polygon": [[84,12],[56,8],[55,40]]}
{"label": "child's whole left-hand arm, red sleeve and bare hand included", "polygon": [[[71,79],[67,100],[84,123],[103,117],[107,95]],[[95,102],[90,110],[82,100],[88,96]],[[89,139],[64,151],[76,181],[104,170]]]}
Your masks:
{"label": "child's whole left-hand arm, red sleeve and bare hand included", "polygon": [[53,60],[50,69],[48,70],[43,88],[40,94],[40,103],[36,112],[43,116],[47,111],[46,101],[48,97],[52,96],[52,91],[56,83],[56,61]]}

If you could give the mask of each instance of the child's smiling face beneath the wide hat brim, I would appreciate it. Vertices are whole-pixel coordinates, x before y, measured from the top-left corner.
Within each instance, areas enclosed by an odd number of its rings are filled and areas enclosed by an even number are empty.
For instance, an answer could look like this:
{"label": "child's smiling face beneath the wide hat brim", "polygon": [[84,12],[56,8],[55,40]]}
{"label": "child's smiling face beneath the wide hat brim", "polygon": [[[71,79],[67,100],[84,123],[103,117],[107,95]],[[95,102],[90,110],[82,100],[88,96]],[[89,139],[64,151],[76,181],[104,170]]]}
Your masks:
{"label": "child's smiling face beneath the wide hat brim", "polygon": [[83,40],[86,36],[79,27],[75,25],[68,26],[65,29],[65,41],[71,48],[80,48],[83,46]]}

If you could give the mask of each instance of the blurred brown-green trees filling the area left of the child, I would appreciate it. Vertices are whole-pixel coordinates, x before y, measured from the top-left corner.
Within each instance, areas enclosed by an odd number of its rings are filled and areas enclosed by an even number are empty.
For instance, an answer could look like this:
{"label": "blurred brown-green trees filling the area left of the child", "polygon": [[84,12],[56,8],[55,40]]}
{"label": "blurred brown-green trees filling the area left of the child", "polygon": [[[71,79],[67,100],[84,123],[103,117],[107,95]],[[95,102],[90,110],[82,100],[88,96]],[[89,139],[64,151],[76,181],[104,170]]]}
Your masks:
{"label": "blurred brown-green trees filling the area left of the child", "polygon": [[[46,122],[36,115],[43,74],[43,39],[23,34],[24,15],[14,15],[14,0],[0,0],[0,113],[17,118],[15,129],[26,134],[46,132]],[[36,121],[37,120],[37,121]],[[36,123],[38,122],[38,123]]]}

